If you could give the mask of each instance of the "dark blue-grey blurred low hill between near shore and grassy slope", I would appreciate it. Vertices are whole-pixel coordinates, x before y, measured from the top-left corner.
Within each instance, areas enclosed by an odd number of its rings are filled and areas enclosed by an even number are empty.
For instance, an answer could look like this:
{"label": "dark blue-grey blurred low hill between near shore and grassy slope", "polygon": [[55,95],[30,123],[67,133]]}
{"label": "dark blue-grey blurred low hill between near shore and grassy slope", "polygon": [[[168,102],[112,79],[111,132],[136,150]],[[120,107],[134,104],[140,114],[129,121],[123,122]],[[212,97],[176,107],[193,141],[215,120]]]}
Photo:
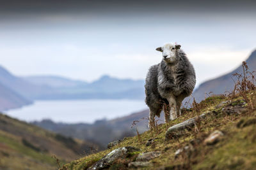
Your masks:
{"label": "dark blue-grey blurred low hill between near shore and grassy slope", "polygon": [[[148,110],[143,110],[137,113],[132,113],[126,117],[115,118],[113,120],[97,120],[94,124],[65,124],[56,123],[51,120],[35,121],[32,124],[38,125],[49,131],[60,133],[64,136],[72,138],[92,140],[104,148],[108,143],[124,138],[125,136],[133,136],[136,134],[135,129],[132,129],[132,122],[138,120],[137,126],[139,132],[148,130]],[[143,119],[144,118],[144,119]],[[163,114],[159,118],[159,123],[163,123]]]}

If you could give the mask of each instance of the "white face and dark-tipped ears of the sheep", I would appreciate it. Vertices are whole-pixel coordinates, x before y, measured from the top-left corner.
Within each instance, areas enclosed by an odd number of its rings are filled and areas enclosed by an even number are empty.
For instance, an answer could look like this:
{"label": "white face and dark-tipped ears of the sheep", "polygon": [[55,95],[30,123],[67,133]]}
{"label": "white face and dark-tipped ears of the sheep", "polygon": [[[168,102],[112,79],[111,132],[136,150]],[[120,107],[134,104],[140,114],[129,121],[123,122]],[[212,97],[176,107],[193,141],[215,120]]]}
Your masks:
{"label": "white face and dark-tipped ears of the sheep", "polygon": [[177,51],[180,49],[180,45],[166,44],[162,47],[156,48],[157,51],[163,52],[163,60],[168,64],[175,64],[178,60]]}

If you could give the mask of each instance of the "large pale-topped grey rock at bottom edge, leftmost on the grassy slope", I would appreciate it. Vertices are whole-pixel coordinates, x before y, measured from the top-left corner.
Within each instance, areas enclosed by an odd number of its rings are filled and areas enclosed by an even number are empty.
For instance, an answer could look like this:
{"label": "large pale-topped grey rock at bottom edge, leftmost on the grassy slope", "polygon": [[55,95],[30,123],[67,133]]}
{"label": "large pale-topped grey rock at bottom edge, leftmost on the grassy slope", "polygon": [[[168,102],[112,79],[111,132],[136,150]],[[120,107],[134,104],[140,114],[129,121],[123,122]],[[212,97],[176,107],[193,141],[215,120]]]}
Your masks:
{"label": "large pale-topped grey rock at bottom edge, leftmost on the grassy slope", "polygon": [[140,149],[134,148],[132,146],[125,146],[125,147],[117,148],[117,149],[113,150],[112,152],[108,153],[107,155],[105,155],[98,162],[93,164],[93,166],[90,169],[106,169],[109,166],[111,166],[111,164],[113,164],[113,162],[115,162],[115,160],[125,159],[127,157],[127,155],[129,155],[129,153],[138,152],[138,151],[140,151]]}

